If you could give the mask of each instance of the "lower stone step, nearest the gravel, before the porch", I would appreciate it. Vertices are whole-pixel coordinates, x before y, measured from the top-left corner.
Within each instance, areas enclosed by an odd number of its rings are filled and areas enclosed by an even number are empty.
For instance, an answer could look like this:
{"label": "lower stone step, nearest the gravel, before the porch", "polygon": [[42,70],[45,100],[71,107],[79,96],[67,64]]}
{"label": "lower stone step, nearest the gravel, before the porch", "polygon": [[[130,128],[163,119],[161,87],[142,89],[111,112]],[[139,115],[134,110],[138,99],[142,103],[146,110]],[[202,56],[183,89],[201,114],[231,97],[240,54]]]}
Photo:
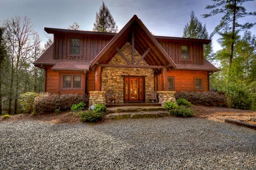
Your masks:
{"label": "lower stone step, nearest the gravel, before the porch", "polygon": [[118,112],[106,114],[106,118],[114,120],[125,118],[158,118],[167,116],[170,116],[170,113],[167,111]]}

